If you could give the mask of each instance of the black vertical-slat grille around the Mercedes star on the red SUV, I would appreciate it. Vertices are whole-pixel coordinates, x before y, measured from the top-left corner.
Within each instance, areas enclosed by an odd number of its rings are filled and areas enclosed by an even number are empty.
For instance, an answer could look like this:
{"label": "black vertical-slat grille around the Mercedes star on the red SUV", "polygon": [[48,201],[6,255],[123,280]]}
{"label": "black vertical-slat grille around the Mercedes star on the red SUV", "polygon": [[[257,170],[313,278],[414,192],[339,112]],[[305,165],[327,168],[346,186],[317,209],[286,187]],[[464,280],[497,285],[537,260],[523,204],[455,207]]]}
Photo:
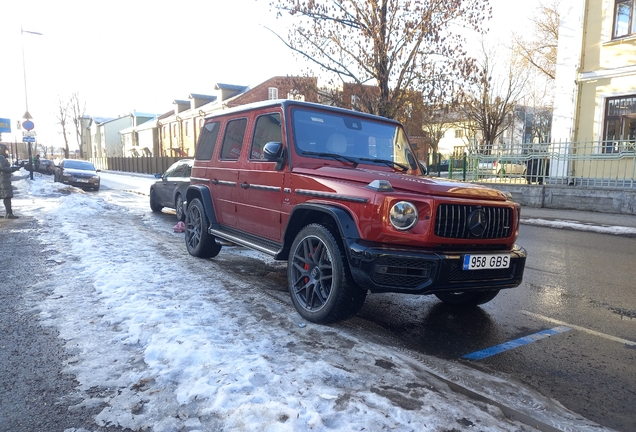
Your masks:
{"label": "black vertical-slat grille around the Mercedes star on the red SUV", "polygon": [[[472,212],[481,209],[485,214],[486,227],[481,235],[471,233],[468,220]],[[440,204],[435,215],[435,235],[458,239],[497,239],[510,236],[512,231],[512,209],[506,207],[469,206]]]}

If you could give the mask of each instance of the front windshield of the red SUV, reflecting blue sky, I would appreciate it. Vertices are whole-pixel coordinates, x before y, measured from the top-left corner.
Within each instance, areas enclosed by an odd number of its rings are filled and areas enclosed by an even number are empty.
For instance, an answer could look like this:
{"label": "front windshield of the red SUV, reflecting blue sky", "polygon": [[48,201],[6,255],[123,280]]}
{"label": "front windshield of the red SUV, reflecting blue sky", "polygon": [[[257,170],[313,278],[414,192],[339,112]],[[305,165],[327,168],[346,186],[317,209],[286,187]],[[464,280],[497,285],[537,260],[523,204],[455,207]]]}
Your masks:
{"label": "front windshield of the red SUV, reflecting blue sky", "polygon": [[[416,158],[402,128],[338,113],[294,109],[296,152],[359,164],[416,169]],[[336,157],[334,157],[336,155]]]}

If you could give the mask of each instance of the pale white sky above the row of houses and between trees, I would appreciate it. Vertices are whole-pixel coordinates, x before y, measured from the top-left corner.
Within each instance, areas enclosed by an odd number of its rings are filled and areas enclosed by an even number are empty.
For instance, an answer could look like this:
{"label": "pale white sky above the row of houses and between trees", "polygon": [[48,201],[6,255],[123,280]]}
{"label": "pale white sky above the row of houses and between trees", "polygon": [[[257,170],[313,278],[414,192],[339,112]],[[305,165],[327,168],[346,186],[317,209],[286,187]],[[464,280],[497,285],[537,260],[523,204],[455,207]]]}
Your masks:
{"label": "pale white sky above the row of houses and between trees", "polygon": [[[537,2],[490,1],[493,38],[522,28],[520,11]],[[0,23],[0,118],[13,129],[5,141],[21,140],[15,124],[27,103],[39,142],[59,147],[57,112],[72,93],[91,116],[163,114],[190,93],[214,94],[216,83],[257,85],[308,66],[267,29],[285,36],[289,24],[269,0],[3,0]]]}

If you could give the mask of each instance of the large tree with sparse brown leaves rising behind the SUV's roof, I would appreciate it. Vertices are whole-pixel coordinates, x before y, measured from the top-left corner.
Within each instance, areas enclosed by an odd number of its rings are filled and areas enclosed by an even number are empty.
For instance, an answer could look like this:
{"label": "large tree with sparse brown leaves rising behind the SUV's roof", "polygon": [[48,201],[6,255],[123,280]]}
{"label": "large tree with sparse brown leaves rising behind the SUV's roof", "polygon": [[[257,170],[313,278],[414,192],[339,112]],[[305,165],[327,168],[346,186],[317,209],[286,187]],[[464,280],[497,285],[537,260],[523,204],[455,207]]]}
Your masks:
{"label": "large tree with sparse brown leaves rising behind the SUV's roof", "polygon": [[475,72],[453,26],[479,32],[491,15],[487,0],[272,0],[270,6],[296,18],[287,39],[279,38],[327,74],[329,86],[357,86],[360,110],[390,118],[414,93],[426,97],[435,79],[463,81]]}

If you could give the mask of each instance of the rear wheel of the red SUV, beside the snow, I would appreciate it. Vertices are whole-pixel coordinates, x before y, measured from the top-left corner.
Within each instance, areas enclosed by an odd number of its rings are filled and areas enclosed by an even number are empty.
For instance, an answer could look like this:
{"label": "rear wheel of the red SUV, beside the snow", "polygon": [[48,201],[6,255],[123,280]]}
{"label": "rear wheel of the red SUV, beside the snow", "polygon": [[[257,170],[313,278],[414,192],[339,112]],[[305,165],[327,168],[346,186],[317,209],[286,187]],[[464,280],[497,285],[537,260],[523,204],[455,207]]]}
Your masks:
{"label": "rear wheel of the red SUV, beside the snow", "polygon": [[208,233],[208,217],[200,199],[188,205],[185,220],[185,241],[188,253],[199,258],[212,258],[221,252],[221,245]]}

